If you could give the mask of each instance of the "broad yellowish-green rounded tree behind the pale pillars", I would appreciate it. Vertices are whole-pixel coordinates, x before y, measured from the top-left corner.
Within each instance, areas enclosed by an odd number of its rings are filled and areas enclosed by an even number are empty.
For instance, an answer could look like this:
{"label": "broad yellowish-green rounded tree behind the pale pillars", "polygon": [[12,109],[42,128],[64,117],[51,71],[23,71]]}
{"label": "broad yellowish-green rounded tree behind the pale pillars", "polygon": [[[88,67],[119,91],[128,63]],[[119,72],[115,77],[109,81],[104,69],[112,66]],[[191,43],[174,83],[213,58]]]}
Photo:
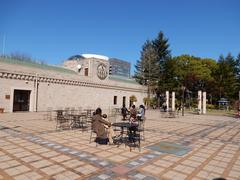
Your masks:
{"label": "broad yellowish-green rounded tree behind the pale pillars", "polygon": [[[181,55],[174,57],[172,61],[175,62],[174,77],[175,83],[173,83],[172,89],[176,91],[176,96],[180,98],[182,94],[181,86],[186,87],[185,96],[188,98],[190,105],[190,98],[197,97],[198,90],[207,91],[207,94],[211,96],[215,79],[213,74],[217,68],[217,62],[213,59],[194,57],[190,55]],[[173,81],[174,82],[174,81]],[[213,88],[214,89],[214,88]]]}

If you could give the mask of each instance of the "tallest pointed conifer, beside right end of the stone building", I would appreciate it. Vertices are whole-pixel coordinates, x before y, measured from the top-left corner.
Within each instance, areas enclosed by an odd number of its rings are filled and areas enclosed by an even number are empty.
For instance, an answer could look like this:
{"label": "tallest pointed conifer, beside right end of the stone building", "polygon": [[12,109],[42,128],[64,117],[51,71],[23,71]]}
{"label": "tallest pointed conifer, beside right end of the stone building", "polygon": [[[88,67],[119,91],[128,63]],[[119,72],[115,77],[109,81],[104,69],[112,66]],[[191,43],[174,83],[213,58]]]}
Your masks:
{"label": "tallest pointed conifer, beside right end of the stone building", "polygon": [[168,39],[164,37],[163,32],[159,32],[156,39],[144,43],[140,60],[135,65],[134,78],[140,84],[148,85],[151,93],[159,97],[165,89],[163,84],[167,73],[166,62],[170,58]]}

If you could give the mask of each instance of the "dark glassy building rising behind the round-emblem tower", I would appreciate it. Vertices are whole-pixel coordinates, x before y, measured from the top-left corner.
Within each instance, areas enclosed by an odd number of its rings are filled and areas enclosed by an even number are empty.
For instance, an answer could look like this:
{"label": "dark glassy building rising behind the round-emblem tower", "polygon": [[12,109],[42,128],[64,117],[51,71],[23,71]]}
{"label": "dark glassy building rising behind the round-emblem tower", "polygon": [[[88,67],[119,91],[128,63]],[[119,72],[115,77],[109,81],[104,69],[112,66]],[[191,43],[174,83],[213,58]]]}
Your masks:
{"label": "dark glassy building rising behind the round-emblem tower", "polygon": [[130,77],[131,64],[116,58],[109,59],[110,74],[116,76]]}

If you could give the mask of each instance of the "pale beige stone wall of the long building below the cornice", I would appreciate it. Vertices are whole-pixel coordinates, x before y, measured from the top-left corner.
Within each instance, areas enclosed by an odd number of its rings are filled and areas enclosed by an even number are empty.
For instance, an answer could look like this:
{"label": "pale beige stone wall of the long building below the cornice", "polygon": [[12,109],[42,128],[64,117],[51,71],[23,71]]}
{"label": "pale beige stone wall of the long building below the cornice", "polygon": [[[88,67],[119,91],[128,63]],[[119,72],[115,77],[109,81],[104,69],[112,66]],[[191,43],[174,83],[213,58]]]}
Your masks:
{"label": "pale beige stone wall of the long building below the cornice", "polygon": [[[14,89],[31,90],[30,111],[35,111],[35,88],[34,81],[4,79],[0,78],[0,108],[5,112],[12,112]],[[5,99],[5,95],[10,95],[10,100]],[[39,82],[38,86],[38,111],[46,111],[48,107],[58,109],[60,107],[121,107],[123,96],[126,96],[126,106],[129,105],[129,97],[135,95],[136,106],[143,104],[146,93],[130,92],[124,90],[104,89],[87,86],[74,86],[66,84],[55,84]],[[117,105],[113,104],[113,98],[117,96]]]}

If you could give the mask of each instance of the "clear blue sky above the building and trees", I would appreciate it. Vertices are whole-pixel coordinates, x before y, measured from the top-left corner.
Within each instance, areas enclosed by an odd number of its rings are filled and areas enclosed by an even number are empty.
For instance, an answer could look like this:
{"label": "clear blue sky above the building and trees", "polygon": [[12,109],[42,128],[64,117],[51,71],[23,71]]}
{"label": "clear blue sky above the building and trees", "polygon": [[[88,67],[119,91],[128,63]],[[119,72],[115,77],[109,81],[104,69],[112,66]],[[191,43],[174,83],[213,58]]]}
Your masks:
{"label": "clear blue sky above the building and trees", "polygon": [[[127,60],[159,31],[173,56],[240,53],[239,0],[0,0],[0,52],[59,64],[82,53]],[[1,54],[0,53],[0,54]]]}

